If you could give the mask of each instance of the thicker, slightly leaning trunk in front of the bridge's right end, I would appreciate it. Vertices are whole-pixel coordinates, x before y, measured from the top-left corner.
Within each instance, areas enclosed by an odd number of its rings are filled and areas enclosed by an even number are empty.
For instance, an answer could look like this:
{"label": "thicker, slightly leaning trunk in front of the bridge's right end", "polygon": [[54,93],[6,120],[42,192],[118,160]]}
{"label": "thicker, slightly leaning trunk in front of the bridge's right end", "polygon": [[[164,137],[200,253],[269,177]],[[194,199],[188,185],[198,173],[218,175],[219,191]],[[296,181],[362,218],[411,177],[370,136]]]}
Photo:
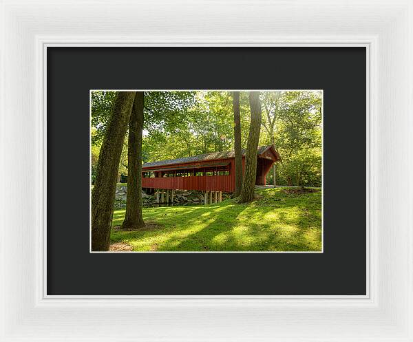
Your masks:
{"label": "thicker, slightly leaning trunk in front of the bridge's right end", "polygon": [[255,178],[257,176],[257,149],[260,140],[261,129],[261,104],[260,92],[250,92],[249,94],[251,108],[251,125],[246,144],[245,155],[245,175],[242,191],[240,195],[240,203],[251,202],[255,195]]}

